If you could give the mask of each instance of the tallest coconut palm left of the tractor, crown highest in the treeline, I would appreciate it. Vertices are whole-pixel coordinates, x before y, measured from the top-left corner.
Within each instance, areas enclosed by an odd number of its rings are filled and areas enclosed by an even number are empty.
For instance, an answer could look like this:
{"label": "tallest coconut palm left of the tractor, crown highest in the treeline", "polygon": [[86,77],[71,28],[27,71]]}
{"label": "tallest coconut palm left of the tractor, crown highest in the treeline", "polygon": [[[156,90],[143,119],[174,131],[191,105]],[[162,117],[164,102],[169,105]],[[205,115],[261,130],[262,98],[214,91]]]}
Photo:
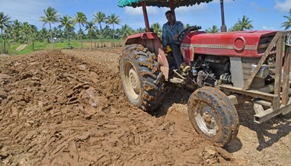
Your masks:
{"label": "tallest coconut palm left of the tractor, crown highest in the treeline", "polygon": [[[40,21],[44,22],[45,24],[49,24],[49,30],[51,33],[51,42],[53,43],[53,32],[51,30],[51,24],[54,24],[56,22],[59,21],[59,15],[57,10],[55,10],[54,8],[52,8],[51,6],[48,7],[46,10],[44,10],[44,14],[45,16],[40,17]],[[54,44],[53,44],[53,49],[55,48]]]}

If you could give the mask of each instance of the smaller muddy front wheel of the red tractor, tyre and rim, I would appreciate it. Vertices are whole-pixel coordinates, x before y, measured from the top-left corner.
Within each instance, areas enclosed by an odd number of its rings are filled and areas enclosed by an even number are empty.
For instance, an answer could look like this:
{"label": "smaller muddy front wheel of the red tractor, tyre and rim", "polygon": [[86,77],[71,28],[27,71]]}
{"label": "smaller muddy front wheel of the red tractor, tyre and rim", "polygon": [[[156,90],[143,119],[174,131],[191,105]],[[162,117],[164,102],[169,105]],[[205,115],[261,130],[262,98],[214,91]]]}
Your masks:
{"label": "smaller muddy front wheel of the red tractor, tyre and rim", "polygon": [[236,107],[218,89],[204,86],[192,93],[188,114],[194,129],[207,140],[227,145],[238,134]]}

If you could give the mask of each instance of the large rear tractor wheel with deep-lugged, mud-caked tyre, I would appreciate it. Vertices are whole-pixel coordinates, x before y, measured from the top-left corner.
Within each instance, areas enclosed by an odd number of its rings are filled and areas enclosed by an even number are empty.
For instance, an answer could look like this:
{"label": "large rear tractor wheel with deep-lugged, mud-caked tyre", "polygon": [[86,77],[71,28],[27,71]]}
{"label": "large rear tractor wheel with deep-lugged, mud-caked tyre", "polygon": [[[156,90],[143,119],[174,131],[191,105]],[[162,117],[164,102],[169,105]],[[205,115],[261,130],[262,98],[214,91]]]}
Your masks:
{"label": "large rear tractor wheel with deep-lugged, mud-caked tyre", "polygon": [[144,111],[153,111],[164,98],[164,75],[157,56],[140,44],[127,46],[121,54],[119,70],[129,102]]}

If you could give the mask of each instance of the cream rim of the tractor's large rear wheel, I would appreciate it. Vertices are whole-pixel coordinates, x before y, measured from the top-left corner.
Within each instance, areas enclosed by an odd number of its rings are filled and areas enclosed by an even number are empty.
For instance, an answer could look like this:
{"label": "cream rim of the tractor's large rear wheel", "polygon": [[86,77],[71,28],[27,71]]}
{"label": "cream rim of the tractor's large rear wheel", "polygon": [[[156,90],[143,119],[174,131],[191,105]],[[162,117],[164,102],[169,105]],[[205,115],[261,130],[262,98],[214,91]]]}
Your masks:
{"label": "cream rim of the tractor's large rear wheel", "polygon": [[138,100],[141,93],[141,83],[139,82],[139,75],[131,62],[126,61],[124,63],[123,75],[125,77],[124,88],[127,94],[130,95],[132,100]]}

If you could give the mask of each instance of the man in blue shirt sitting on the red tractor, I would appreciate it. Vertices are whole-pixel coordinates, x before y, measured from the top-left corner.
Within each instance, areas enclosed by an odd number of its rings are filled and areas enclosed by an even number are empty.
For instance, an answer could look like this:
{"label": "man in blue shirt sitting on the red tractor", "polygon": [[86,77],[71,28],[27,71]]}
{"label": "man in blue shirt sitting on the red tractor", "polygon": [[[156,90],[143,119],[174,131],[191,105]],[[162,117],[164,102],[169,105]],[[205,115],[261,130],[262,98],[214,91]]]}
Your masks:
{"label": "man in blue shirt sitting on the red tractor", "polygon": [[171,10],[168,10],[166,13],[166,18],[168,22],[163,26],[163,49],[166,53],[166,46],[170,46],[172,49],[175,62],[177,64],[178,71],[181,71],[181,64],[184,62],[182,56],[180,55],[180,45],[182,41],[179,41],[179,34],[184,30],[182,22],[176,21]]}

